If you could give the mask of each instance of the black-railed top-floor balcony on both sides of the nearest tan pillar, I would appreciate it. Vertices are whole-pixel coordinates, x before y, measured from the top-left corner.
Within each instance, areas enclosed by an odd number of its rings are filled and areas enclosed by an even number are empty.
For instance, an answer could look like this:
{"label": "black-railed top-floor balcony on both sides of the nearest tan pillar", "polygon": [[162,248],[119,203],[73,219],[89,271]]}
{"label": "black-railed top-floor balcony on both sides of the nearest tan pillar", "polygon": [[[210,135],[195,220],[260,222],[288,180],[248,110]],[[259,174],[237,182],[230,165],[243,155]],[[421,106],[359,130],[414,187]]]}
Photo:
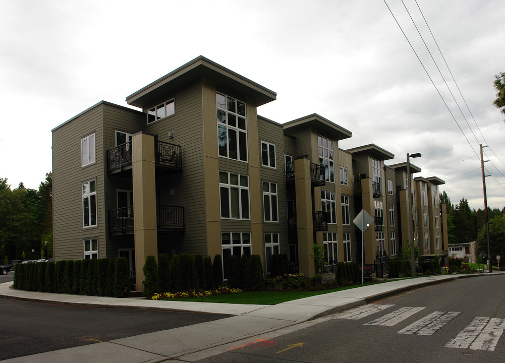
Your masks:
{"label": "black-railed top-floor balcony on both sides of the nearest tan pillar", "polygon": [[[171,172],[182,169],[180,145],[155,140],[155,165],[157,171]],[[110,174],[120,173],[132,167],[132,143],[128,141],[107,150],[107,170]]]}

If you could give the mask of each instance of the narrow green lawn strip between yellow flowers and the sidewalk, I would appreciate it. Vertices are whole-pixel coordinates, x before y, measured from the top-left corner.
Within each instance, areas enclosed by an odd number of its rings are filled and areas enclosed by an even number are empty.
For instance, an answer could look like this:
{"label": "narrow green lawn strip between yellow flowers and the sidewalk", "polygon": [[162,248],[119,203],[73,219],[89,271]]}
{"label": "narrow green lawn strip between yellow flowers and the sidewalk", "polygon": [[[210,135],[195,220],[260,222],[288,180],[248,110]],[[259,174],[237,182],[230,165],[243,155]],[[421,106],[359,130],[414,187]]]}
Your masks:
{"label": "narrow green lawn strip between yellow flowers and the sidewalk", "polygon": [[260,304],[260,305],[275,305],[281,302],[302,299],[304,297],[310,297],[315,295],[327,294],[330,292],[354,289],[356,287],[381,284],[387,281],[375,281],[364,285],[354,285],[339,287],[336,289],[329,290],[317,290],[317,291],[246,291],[235,294],[218,295],[218,296],[207,296],[207,297],[195,297],[189,299],[163,299],[163,300],[174,300],[174,301],[197,301],[197,302],[221,302],[229,304]]}

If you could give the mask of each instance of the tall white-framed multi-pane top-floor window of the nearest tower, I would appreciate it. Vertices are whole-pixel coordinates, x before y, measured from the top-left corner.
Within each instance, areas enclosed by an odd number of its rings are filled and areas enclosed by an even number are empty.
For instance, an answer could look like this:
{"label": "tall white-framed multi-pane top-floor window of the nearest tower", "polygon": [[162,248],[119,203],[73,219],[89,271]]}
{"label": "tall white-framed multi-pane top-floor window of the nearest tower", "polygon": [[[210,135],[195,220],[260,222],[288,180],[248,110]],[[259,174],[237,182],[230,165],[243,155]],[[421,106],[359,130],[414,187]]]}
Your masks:
{"label": "tall white-framed multi-pane top-floor window of the nearest tower", "polygon": [[245,103],[217,92],[216,107],[219,156],[247,162]]}

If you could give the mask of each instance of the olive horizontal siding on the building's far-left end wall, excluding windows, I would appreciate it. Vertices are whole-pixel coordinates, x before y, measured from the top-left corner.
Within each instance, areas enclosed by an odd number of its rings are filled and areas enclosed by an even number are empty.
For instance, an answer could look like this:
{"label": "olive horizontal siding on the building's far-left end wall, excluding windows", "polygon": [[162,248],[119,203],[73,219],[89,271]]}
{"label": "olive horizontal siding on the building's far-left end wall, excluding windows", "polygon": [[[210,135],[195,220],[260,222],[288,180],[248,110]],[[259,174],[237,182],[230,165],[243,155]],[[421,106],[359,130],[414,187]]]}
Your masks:
{"label": "olive horizontal siding on the building's far-left end wall, excluding windows", "polygon": [[[98,257],[106,256],[104,204],[103,103],[53,131],[53,231],[55,260],[84,256],[83,239],[98,239]],[[81,167],[81,139],[95,134],[95,163]],[[96,227],[83,227],[82,183],[96,180]]]}

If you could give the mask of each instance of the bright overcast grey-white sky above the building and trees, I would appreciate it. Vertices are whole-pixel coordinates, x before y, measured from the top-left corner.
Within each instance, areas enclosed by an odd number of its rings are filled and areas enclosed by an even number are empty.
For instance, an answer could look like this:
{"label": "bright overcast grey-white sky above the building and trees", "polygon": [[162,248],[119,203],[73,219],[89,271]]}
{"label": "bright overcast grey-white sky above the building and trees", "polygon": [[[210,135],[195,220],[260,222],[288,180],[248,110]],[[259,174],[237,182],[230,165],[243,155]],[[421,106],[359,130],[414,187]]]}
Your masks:
{"label": "bright overcast grey-white sky above the building and trees", "polygon": [[340,148],[374,143],[394,153],[388,165],[421,152],[415,176],[445,180],[453,203],[483,209],[478,154],[489,145],[488,205],[501,210],[505,117],[492,102],[505,2],[417,0],[463,100],[416,1],[403,1],[457,103],[401,0],[386,3],[438,91],[383,0],[1,0],[0,177],[38,188],[52,170],[53,128],[100,100],[127,106],[203,55],[277,92],[264,117],[317,113],[352,132]]}

